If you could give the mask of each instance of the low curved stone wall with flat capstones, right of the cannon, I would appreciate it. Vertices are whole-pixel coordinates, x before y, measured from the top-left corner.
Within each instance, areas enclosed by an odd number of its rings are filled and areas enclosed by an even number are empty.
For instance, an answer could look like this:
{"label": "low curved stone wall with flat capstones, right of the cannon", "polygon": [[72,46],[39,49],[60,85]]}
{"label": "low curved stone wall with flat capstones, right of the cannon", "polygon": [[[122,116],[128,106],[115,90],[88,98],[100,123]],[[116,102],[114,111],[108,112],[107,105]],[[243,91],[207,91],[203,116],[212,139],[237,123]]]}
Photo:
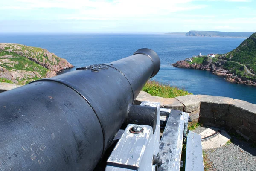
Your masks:
{"label": "low curved stone wall with flat capstones, right of the cannon", "polygon": [[256,142],[256,104],[228,97],[186,95],[176,98],[151,96],[141,91],[135,104],[141,101],[160,102],[161,106],[189,113],[190,119],[235,131]]}

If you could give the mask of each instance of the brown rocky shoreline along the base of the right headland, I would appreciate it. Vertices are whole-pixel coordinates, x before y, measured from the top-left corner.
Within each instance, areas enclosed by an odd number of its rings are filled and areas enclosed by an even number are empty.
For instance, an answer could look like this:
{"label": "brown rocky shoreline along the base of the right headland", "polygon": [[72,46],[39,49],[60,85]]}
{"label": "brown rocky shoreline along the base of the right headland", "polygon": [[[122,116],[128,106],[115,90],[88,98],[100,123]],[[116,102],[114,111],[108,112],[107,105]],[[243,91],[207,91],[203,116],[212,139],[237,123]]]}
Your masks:
{"label": "brown rocky shoreline along the base of the right headland", "polygon": [[218,59],[217,61],[213,62],[212,58],[207,58],[207,59],[204,59],[202,64],[196,64],[196,63],[189,64],[186,61],[177,61],[176,63],[172,64],[172,66],[179,67],[179,68],[207,70],[207,71],[211,71],[215,75],[225,77],[225,80],[231,83],[256,86],[256,81],[253,81],[249,78],[244,78],[244,77],[240,78],[238,75],[231,73],[229,70],[225,70],[223,66],[226,62],[227,61],[221,60],[221,59]]}

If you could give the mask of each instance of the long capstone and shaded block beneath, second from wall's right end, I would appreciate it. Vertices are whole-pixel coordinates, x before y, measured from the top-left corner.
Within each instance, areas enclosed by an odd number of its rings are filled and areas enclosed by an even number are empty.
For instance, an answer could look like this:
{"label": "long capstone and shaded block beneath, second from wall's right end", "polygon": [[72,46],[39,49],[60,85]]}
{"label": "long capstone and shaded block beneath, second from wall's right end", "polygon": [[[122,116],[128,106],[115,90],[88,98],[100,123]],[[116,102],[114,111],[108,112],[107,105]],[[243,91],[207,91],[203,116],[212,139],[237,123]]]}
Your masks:
{"label": "long capstone and shaded block beneath, second from wall's right end", "polygon": [[201,101],[201,109],[209,110],[221,110],[227,112],[229,109],[230,103],[233,101],[229,97],[221,96],[209,96],[209,95],[196,95]]}

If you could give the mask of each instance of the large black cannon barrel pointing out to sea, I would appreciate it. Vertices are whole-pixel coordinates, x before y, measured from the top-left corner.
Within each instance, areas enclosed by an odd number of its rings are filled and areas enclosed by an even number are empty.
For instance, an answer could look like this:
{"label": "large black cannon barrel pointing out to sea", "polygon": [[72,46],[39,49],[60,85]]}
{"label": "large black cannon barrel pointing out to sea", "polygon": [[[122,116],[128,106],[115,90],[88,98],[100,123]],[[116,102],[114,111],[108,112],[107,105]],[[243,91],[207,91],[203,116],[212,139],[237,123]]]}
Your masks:
{"label": "large black cannon barrel pointing out to sea", "polygon": [[0,93],[0,171],[91,171],[160,69],[151,49]]}

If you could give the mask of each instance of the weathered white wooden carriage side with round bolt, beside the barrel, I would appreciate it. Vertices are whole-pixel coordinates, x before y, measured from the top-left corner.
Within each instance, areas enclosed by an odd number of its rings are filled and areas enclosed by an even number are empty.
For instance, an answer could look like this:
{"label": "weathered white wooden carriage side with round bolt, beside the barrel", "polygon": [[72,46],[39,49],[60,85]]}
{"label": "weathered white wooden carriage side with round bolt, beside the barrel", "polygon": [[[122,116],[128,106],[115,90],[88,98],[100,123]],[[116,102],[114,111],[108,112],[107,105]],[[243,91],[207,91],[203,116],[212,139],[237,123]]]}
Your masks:
{"label": "weathered white wooden carriage side with round bolt, beside the barrel", "polygon": [[[149,125],[128,124],[107,160],[105,171],[160,171],[160,103],[142,102],[140,105],[157,107],[154,133]],[[156,161],[153,161],[154,156],[157,156]]]}

